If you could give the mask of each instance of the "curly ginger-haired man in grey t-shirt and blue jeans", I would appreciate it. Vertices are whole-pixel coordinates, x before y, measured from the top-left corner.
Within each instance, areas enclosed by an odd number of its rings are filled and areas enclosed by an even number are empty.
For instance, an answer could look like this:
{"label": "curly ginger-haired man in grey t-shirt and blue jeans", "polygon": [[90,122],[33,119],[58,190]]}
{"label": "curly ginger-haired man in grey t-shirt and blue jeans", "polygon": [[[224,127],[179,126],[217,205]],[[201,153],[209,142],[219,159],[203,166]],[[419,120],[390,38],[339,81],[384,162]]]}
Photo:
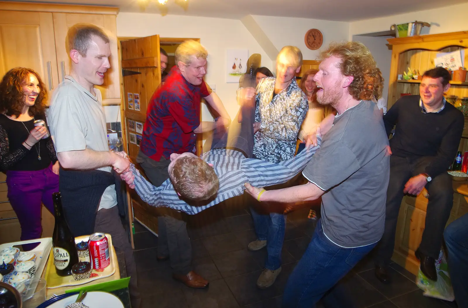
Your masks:
{"label": "curly ginger-haired man in grey t-shirt and blue jeans", "polygon": [[259,201],[292,203],[322,196],[321,219],[285,287],[287,308],[314,307],[322,297],[327,305],[338,293],[336,283],[375,247],[384,230],[388,139],[380,111],[370,101],[380,97],[383,78],[359,42],[332,44],[321,56],[314,77],[321,88],[317,100],[338,114],[303,171],[309,182],[268,191],[246,184]]}

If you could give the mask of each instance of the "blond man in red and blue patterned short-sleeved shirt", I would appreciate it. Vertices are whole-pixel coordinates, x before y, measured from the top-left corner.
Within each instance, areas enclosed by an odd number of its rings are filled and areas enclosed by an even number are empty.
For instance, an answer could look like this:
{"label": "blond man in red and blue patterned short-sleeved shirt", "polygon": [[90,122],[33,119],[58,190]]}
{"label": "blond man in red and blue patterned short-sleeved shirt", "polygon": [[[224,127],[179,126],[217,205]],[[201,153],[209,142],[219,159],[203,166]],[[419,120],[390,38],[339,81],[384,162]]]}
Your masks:
{"label": "blond man in red and blue patterned short-sleeved shirt", "polygon": [[[170,154],[195,151],[197,133],[231,122],[223,103],[203,80],[208,53],[200,43],[188,40],[176,49],[176,66],[148,103],[143,138],[136,158],[151,183],[158,187],[169,178]],[[216,121],[200,121],[200,99],[219,114]],[[158,217],[158,261],[170,258],[173,277],[192,288],[208,281],[192,270],[192,251],[182,214],[164,209]]]}

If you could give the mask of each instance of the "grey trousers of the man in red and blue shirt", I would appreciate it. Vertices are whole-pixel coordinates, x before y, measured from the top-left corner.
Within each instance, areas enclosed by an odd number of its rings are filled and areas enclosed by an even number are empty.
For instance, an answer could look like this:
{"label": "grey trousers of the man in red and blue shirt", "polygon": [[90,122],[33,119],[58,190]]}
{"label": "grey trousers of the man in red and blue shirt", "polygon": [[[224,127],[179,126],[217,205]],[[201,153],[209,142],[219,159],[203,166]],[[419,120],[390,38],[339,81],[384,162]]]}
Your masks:
{"label": "grey trousers of the man in red and blue shirt", "polygon": [[[160,186],[169,178],[170,159],[161,157],[160,161],[155,161],[139,151],[136,160],[154,186]],[[192,270],[192,246],[187,233],[187,222],[183,214],[176,210],[159,210],[162,215],[158,217],[158,256],[169,256],[174,274],[187,275]]]}

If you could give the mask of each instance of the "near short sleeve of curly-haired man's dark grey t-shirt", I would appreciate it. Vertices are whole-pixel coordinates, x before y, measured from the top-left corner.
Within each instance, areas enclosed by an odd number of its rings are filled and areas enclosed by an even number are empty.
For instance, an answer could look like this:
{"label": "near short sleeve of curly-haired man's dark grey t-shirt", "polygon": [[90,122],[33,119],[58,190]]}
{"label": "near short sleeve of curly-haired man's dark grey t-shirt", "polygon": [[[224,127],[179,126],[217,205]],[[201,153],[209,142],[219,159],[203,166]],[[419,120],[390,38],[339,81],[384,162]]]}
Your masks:
{"label": "near short sleeve of curly-haired man's dark grey t-shirt", "polygon": [[327,140],[302,172],[309,182],[326,191],[360,168],[354,153],[341,141]]}

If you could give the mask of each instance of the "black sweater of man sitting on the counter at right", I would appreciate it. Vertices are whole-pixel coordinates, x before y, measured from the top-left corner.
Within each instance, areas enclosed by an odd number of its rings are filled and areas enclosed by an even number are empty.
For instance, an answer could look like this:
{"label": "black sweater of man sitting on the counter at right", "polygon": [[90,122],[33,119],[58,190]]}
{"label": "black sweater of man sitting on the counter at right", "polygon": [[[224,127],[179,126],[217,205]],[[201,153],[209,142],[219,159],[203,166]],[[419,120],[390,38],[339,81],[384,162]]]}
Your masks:
{"label": "black sweater of man sitting on the counter at right", "polygon": [[392,155],[403,158],[429,158],[425,173],[436,177],[452,164],[464,127],[460,110],[448,102],[439,113],[423,113],[419,95],[404,96],[383,116]]}

